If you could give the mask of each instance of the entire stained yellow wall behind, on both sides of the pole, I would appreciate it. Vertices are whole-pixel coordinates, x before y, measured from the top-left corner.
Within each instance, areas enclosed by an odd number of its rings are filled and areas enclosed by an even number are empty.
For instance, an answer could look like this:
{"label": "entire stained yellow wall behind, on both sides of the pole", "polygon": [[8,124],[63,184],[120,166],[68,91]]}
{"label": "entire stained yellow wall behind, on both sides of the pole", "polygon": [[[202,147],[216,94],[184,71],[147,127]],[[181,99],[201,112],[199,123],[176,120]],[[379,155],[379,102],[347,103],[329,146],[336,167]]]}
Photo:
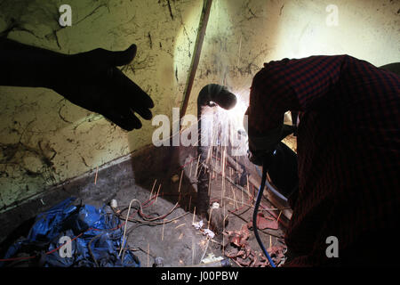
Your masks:
{"label": "entire stained yellow wall behind, on both sides of the pole", "polygon": [[[72,8],[61,28],[59,7]],[[337,25],[327,17],[337,7]],[[201,0],[0,0],[0,33],[60,53],[138,45],[125,74],[154,99],[154,115],[180,107],[196,43]],[[331,16],[330,16],[331,15]],[[400,1],[214,0],[187,114],[219,83],[248,100],[262,63],[348,53],[400,61]],[[112,94],[110,94],[112,95]],[[244,108],[242,110],[244,112]],[[0,87],[0,211],[151,143],[157,126],[125,133],[44,88]]]}

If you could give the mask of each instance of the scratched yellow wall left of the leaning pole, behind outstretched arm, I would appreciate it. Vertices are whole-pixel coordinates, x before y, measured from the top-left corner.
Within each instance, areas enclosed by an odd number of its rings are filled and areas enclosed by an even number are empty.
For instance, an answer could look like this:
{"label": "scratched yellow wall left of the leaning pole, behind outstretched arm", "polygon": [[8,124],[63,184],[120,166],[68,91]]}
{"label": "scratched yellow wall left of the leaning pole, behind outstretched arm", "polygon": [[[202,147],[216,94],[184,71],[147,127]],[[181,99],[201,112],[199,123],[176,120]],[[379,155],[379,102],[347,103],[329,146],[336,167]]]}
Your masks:
{"label": "scratched yellow wall left of the leaning pole, behind outstretched arm", "polygon": [[[98,47],[122,50],[135,43],[138,55],[123,67],[124,73],[152,96],[155,113],[167,113],[170,106],[178,105],[177,74],[186,70],[174,69],[173,50],[177,31],[181,26],[185,30],[181,13],[193,8],[193,1],[71,0],[68,4],[72,26],[61,28],[59,4],[1,1],[0,33],[60,53]],[[186,49],[194,45],[191,29],[186,26]],[[165,96],[167,92],[176,98]],[[102,116],[47,89],[0,87],[0,94],[0,211],[151,142],[148,121],[140,130],[125,134]]]}

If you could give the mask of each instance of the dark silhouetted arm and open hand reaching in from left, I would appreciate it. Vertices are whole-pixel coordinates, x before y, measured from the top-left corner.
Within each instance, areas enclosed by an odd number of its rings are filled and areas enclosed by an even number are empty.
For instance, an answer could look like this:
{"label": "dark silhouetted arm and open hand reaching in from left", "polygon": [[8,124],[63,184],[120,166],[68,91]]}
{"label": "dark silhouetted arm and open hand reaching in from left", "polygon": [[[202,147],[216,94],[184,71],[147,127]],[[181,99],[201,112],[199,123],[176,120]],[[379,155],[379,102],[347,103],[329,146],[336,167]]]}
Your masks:
{"label": "dark silhouetted arm and open hand reaching in from left", "polygon": [[95,49],[67,55],[0,39],[0,85],[46,87],[131,131],[151,119],[151,98],[117,69],[130,63],[136,45],[122,52]]}

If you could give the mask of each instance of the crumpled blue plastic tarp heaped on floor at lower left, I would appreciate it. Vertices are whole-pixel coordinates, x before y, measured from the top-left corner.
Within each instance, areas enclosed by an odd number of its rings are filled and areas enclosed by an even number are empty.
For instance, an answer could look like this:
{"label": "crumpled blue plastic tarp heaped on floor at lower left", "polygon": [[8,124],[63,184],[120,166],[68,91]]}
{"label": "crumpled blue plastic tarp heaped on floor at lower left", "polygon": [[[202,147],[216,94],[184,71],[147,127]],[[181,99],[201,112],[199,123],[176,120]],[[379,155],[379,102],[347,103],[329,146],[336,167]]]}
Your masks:
{"label": "crumpled blue plastic tarp heaped on floor at lower left", "polygon": [[[118,217],[106,213],[104,207],[75,206],[75,200],[65,199],[36,216],[28,237],[8,248],[4,259],[12,258],[24,248],[45,248],[41,260],[45,267],[139,267],[140,261],[129,248],[119,256],[124,227]],[[68,247],[60,248],[65,240],[69,242]],[[60,249],[54,250],[56,248]],[[70,254],[65,254],[67,248]],[[4,262],[0,263],[2,265]]]}

